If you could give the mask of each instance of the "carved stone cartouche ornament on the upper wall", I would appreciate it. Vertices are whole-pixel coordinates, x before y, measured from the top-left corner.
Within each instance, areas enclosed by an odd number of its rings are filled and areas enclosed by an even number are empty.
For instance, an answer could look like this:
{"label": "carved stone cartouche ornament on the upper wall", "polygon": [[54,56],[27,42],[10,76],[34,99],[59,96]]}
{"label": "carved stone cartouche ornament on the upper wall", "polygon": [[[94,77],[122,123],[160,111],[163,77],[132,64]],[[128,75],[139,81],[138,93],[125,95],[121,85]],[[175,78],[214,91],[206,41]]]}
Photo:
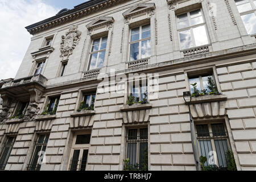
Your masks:
{"label": "carved stone cartouche ornament on the upper wall", "polygon": [[69,31],[66,32],[65,36],[61,36],[60,57],[62,57],[63,59],[64,57],[68,59],[69,56],[73,54],[73,50],[75,49],[77,44],[79,44],[82,32],[77,30],[77,28],[77,25],[73,25],[69,28]]}

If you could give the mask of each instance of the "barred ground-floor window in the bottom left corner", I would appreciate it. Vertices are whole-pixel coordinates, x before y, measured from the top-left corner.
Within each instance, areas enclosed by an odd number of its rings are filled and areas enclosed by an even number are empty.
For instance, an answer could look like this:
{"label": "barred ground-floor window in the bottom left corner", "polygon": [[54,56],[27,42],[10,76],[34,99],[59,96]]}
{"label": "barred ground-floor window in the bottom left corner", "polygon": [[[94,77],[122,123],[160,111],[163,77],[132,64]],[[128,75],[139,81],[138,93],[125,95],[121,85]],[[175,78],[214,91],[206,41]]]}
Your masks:
{"label": "barred ground-floor window in the bottom left corner", "polygon": [[11,154],[11,150],[13,150],[13,145],[16,137],[7,137],[7,142],[3,147],[2,154],[0,156],[0,170],[5,170],[6,164]]}

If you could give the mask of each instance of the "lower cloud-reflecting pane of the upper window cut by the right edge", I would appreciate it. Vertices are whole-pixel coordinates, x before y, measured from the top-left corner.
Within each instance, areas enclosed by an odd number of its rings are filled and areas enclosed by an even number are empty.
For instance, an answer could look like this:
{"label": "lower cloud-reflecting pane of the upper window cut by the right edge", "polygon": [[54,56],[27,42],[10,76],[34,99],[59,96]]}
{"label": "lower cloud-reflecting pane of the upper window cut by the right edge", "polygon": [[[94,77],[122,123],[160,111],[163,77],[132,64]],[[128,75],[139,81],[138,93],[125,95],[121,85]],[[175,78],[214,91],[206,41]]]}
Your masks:
{"label": "lower cloud-reflecting pane of the upper window cut by the right edge", "polygon": [[241,16],[248,34],[256,34],[256,15],[250,13]]}

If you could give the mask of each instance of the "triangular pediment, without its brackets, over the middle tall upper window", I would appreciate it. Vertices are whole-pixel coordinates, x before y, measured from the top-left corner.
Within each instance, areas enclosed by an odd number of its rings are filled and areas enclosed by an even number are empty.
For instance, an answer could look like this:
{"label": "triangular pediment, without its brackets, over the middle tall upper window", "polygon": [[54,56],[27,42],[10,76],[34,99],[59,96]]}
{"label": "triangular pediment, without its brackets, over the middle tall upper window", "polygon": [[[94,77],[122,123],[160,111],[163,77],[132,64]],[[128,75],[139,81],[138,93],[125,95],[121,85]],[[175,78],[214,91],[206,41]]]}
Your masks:
{"label": "triangular pediment, without its brackets, over the middle tall upper window", "polygon": [[139,3],[125,11],[125,13],[123,13],[123,17],[127,18],[150,10],[155,10],[155,3]]}

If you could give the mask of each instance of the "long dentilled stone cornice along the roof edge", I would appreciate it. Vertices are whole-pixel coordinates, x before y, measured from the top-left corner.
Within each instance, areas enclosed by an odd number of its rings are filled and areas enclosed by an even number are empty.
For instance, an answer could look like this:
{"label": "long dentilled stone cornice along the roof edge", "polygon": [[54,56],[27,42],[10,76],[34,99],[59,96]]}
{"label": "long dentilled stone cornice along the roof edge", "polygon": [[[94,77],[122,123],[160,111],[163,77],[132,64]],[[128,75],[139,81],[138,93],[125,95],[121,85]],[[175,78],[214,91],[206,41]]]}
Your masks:
{"label": "long dentilled stone cornice along the roof edge", "polygon": [[48,30],[49,28],[59,26],[60,24],[64,24],[70,22],[71,20],[75,20],[86,15],[95,13],[102,9],[105,9],[110,6],[114,6],[117,3],[127,1],[127,0],[93,0],[82,3],[79,6],[75,6],[74,9],[65,11],[64,13],[57,14],[52,16],[51,18],[45,19],[41,22],[31,24],[27,26],[26,29],[30,32],[31,35],[35,35],[38,32]]}

